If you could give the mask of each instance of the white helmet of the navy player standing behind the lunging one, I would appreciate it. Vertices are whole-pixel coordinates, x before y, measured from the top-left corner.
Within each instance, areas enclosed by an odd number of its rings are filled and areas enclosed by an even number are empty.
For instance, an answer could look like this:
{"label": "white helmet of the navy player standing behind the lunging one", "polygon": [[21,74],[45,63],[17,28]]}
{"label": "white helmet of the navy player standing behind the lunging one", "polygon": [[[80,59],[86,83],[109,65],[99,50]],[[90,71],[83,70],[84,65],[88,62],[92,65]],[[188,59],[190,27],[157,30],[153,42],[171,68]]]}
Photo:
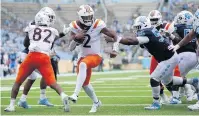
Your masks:
{"label": "white helmet of the navy player standing behind the lunging one", "polygon": [[174,19],[174,24],[186,24],[186,25],[192,25],[193,24],[193,14],[189,11],[181,11],[177,14],[177,16]]}

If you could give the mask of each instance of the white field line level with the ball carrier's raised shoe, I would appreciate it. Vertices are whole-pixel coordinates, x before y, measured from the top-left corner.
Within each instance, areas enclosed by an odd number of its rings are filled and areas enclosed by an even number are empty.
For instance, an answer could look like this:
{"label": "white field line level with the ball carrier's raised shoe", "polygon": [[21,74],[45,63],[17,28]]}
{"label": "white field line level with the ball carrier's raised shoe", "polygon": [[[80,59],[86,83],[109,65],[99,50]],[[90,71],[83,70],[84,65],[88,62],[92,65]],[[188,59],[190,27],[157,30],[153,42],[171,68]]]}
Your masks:
{"label": "white field line level with the ball carrier's raised shoe", "polygon": [[[79,96],[79,98],[87,98],[88,96]],[[97,96],[97,97],[100,97],[100,98],[151,98],[152,96]],[[10,96],[9,97],[1,97],[1,99],[10,99]],[[20,97],[18,97],[20,98]],[[32,98],[32,99],[35,99],[35,98],[39,98],[38,97],[28,97],[28,98]],[[60,96],[49,96],[48,98],[60,98]]]}

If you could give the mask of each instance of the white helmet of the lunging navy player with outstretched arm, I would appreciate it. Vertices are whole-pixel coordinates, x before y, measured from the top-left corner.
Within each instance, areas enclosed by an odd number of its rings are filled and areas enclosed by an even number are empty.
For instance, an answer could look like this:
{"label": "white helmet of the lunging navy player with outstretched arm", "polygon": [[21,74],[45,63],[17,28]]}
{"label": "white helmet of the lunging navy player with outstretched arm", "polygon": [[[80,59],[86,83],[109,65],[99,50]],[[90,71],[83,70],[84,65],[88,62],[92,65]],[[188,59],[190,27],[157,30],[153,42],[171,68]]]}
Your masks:
{"label": "white helmet of the lunging navy player with outstretched arm", "polygon": [[146,16],[139,16],[135,19],[133,24],[133,28],[137,30],[142,30],[146,28],[151,28],[151,22],[148,17]]}

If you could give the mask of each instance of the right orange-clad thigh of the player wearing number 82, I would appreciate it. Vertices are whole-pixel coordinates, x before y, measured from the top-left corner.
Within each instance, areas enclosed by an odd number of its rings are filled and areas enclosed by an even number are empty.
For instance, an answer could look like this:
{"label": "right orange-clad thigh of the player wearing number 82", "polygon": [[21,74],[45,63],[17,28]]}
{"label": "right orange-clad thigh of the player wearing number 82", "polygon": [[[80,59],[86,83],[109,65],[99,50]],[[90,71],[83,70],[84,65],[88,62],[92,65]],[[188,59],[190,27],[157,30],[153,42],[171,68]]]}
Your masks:
{"label": "right orange-clad thigh of the player wearing number 82", "polygon": [[44,78],[47,85],[52,85],[56,82],[54,71],[50,61],[46,62],[44,65],[41,65],[38,68],[38,70],[41,73],[42,78]]}

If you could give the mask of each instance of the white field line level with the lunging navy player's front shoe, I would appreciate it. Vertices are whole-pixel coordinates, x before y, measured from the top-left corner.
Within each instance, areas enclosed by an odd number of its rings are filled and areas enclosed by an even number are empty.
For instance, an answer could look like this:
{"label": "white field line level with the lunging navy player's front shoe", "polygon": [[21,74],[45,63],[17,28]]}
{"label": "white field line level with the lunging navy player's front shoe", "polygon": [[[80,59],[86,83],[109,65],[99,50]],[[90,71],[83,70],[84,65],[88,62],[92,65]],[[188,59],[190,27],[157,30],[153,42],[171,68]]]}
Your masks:
{"label": "white field line level with the lunging navy player's front shoe", "polygon": [[[151,104],[103,104],[103,106],[148,106],[148,105],[151,105]],[[185,106],[185,105],[191,105],[191,104],[177,104],[178,106]],[[7,107],[8,105],[1,105],[1,107]],[[17,106],[17,105],[15,105]],[[30,105],[32,107],[46,107],[44,105]],[[63,105],[54,105],[55,107],[61,107]],[[87,107],[87,106],[92,106],[92,104],[80,104],[80,105],[75,105],[75,104],[72,104],[71,105],[72,107]],[[167,106],[167,105],[165,105]],[[170,104],[168,104],[168,106],[170,106]],[[175,106],[175,105],[173,105]]]}

